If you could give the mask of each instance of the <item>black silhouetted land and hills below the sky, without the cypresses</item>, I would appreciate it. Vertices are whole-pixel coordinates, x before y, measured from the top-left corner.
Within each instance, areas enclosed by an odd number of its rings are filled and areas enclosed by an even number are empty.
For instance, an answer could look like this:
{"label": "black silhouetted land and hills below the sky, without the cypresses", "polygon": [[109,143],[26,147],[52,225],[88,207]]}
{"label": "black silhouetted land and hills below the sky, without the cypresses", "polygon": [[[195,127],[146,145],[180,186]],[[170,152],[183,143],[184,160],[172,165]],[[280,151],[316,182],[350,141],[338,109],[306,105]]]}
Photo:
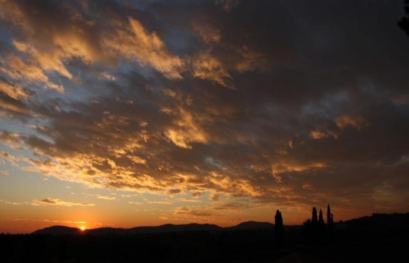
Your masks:
{"label": "black silhouetted land and hills below the sky, without the cypresses", "polygon": [[0,235],[1,262],[408,262],[409,213],[374,214],[335,224],[325,233],[245,222],[235,227],[163,225],[81,232],[50,227],[26,235]]}

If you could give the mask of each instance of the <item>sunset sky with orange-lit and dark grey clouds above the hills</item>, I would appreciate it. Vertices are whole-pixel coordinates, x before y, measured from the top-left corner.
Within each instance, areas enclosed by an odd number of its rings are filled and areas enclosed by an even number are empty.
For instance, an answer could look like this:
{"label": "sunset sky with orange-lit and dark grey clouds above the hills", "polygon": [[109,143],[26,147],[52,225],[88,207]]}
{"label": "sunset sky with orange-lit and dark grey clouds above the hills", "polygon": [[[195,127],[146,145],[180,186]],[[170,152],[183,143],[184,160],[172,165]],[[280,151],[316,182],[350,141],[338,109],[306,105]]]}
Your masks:
{"label": "sunset sky with orange-lit and dark grey clouds above the hills", "polygon": [[408,212],[402,16],[403,0],[0,0],[0,232]]}

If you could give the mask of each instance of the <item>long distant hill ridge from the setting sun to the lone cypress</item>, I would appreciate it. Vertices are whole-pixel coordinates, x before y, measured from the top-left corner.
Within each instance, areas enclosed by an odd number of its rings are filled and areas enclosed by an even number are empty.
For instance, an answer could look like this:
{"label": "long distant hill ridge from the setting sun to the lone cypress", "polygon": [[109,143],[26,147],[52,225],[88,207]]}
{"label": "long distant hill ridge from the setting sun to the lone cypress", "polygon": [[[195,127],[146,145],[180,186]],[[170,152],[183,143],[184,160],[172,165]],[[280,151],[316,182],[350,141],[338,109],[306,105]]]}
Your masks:
{"label": "long distant hill ridge from the setting sun to the lone cypress", "polygon": [[147,234],[147,233],[169,233],[169,232],[194,232],[194,231],[228,231],[228,230],[245,230],[245,229],[263,229],[271,228],[274,225],[268,222],[242,222],[236,226],[222,228],[217,225],[211,224],[186,224],[186,225],[173,225],[166,224],[155,227],[134,227],[134,228],[95,228],[88,229],[82,232],[78,228],[64,227],[64,226],[52,226],[34,231],[32,234],[42,234],[42,235],[78,235],[78,234],[89,234],[89,235],[136,235],[136,234]]}

